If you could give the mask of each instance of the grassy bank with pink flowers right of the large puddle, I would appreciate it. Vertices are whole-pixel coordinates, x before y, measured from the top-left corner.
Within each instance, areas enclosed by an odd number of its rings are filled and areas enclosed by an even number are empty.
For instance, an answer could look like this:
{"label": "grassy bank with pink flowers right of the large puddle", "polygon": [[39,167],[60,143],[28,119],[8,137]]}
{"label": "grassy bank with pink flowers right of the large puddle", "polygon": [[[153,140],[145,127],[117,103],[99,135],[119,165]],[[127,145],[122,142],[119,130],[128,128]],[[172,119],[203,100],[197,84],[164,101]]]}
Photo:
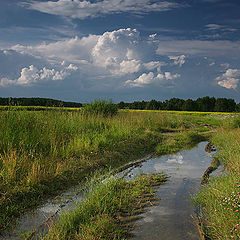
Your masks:
{"label": "grassy bank with pink flowers right of the large puddle", "polygon": [[240,239],[240,129],[232,129],[236,122],[226,122],[225,129],[212,136],[225,174],[210,181],[195,199],[202,207],[205,233],[213,240]]}

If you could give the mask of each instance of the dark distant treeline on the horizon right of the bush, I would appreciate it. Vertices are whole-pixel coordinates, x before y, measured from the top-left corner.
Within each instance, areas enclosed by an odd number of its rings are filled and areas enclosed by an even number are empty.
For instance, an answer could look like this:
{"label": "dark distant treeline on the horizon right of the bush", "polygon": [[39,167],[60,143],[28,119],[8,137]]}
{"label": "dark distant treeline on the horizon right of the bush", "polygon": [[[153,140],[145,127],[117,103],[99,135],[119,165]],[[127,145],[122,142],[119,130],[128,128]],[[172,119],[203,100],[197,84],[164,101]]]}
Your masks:
{"label": "dark distant treeline on the horizon right of the bush", "polygon": [[172,98],[166,101],[139,101],[132,103],[118,103],[120,109],[146,109],[146,110],[176,110],[200,112],[240,112],[240,103],[233,99],[202,97],[196,100]]}

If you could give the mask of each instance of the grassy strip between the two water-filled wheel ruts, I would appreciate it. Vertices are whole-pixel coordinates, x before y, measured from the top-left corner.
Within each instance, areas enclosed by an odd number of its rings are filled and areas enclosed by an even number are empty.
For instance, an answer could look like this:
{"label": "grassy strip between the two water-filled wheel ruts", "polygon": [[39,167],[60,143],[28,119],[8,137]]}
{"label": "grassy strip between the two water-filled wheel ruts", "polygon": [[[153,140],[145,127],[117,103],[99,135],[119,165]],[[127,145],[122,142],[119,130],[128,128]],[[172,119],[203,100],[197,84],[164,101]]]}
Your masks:
{"label": "grassy strip between the two water-filled wheel ruts", "polygon": [[124,239],[136,214],[156,201],[152,187],[164,181],[162,174],[139,175],[130,182],[113,177],[95,180],[85,201],[62,215],[44,239]]}

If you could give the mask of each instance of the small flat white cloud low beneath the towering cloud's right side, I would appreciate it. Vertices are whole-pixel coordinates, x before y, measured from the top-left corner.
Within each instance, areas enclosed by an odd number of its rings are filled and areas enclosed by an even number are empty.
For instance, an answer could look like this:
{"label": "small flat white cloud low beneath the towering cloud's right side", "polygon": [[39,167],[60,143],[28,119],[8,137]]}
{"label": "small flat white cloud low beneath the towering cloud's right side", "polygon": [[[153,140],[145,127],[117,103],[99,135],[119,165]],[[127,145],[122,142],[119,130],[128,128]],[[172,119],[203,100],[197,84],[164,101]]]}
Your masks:
{"label": "small flat white cloud low beneath the towering cloud's right side", "polygon": [[158,73],[157,76],[154,76],[153,72],[143,73],[135,80],[127,80],[125,86],[129,87],[144,87],[146,85],[155,84],[159,86],[171,86],[173,80],[179,78],[180,74],[171,74],[170,72]]}

